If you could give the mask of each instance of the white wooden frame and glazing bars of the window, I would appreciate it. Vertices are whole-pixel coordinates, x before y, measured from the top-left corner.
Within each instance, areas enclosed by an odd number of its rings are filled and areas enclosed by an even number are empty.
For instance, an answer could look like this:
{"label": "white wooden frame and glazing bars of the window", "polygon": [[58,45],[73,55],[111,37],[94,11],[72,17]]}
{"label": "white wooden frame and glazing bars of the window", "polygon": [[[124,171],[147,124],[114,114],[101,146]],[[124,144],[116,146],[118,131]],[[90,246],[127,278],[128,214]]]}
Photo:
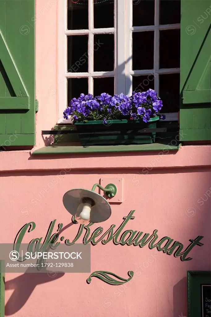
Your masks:
{"label": "white wooden frame and glazing bars of the window", "polygon": [[[114,77],[114,93],[132,94],[132,76],[154,75],[154,89],[159,92],[159,74],[178,74],[180,68],[159,69],[159,31],[180,29],[180,23],[159,25],[160,1],[155,0],[154,24],[132,27],[132,0],[114,1],[114,28],[93,28],[93,0],[89,0],[88,30],[67,30],[67,0],[59,0],[58,14],[58,103],[57,124],[71,123],[63,119],[67,104],[67,78],[88,77],[89,93],[93,94],[93,78]],[[126,27],[128,25],[128,27]],[[132,33],[154,31],[154,68],[132,70]],[[67,36],[88,35],[88,73],[67,72]],[[114,71],[93,71],[94,34],[114,34]],[[167,113],[166,120],[177,120],[177,113]]]}

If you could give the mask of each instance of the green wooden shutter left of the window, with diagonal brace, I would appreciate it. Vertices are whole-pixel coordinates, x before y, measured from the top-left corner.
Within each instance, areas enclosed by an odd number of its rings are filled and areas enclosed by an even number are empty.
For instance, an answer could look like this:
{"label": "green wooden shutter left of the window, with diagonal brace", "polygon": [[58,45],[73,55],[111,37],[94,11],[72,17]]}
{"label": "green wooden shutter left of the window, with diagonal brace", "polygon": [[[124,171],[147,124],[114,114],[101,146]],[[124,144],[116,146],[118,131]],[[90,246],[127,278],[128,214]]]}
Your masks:
{"label": "green wooden shutter left of the window, with diagonal brace", "polygon": [[0,1],[0,146],[35,144],[35,1]]}

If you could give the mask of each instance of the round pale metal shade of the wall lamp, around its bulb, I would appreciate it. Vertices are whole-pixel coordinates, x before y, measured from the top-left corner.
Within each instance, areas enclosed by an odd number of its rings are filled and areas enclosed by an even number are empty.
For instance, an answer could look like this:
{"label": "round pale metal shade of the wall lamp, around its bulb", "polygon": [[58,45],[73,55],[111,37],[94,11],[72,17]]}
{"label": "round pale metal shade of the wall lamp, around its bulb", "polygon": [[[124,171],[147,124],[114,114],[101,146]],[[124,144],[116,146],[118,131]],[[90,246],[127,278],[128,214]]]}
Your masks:
{"label": "round pale metal shade of the wall lamp, around its bulb", "polygon": [[[93,201],[90,211],[90,222],[103,222],[111,216],[111,206],[104,197],[89,189],[75,188],[67,191],[63,196],[63,204],[67,211],[75,216],[83,201],[88,198]],[[77,211],[78,210],[78,211]]]}

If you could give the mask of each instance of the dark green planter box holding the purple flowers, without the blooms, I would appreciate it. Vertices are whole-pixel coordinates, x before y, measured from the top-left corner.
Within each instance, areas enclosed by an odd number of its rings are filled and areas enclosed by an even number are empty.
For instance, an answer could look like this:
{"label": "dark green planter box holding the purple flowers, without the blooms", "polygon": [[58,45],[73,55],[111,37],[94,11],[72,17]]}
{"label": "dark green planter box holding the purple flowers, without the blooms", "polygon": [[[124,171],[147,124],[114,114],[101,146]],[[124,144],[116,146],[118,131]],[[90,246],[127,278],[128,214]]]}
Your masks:
{"label": "dark green planter box holding the purple flowers, without the blooms", "polygon": [[159,117],[151,118],[148,123],[143,120],[110,120],[107,125],[96,120],[76,122],[75,125],[82,146],[150,144],[155,142],[156,132],[138,131],[155,129],[158,120]]}

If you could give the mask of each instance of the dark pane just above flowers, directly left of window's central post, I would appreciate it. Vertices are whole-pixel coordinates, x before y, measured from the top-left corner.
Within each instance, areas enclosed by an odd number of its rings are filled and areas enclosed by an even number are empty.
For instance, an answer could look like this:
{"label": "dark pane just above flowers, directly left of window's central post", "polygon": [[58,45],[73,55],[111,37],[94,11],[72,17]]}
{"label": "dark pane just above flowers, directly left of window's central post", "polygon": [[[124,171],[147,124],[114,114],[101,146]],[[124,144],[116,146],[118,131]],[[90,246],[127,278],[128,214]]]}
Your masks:
{"label": "dark pane just above flowers, directly left of window's central post", "polygon": [[102,93],[114,95],[114,77],[94,78],[94,97]]}

